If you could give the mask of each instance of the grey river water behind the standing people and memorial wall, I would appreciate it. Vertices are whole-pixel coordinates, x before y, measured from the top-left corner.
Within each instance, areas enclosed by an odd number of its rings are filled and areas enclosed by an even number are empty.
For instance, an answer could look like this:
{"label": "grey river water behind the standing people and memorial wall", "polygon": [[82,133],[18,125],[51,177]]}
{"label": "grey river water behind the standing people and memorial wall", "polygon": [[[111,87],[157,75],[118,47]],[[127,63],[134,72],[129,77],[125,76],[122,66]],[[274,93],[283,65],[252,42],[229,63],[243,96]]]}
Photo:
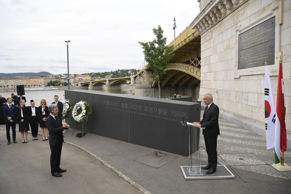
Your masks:
{"label": "grey river water behind the standing people and memorial wall", "polygon": [[[81,90],[88,90],[88,89],[81,89]],[[105,92],[104,89],[96,89],[90,91],[99,91]],[[106,90],[107,93],[114,93],[114,94],[125,94],[125,95],[132,95],[129,89],[120,89],[120,90]],[[17,92],[2,92],[0,90],[0,94],[4,98],[11,97],[11,93],[17,95]],[[36,106],[40,106],[40,100],[45,99],[47,101],[47,105],[54,102],[54,95],[58,95],[59,101],[63,102],[65,100],[65,90],[49,90],[49,91],[25,91],[24,97],[26,98],[26,106],[30,106],[30,100],[34,100]],[[68,98],[70,99],[70,98]]]}

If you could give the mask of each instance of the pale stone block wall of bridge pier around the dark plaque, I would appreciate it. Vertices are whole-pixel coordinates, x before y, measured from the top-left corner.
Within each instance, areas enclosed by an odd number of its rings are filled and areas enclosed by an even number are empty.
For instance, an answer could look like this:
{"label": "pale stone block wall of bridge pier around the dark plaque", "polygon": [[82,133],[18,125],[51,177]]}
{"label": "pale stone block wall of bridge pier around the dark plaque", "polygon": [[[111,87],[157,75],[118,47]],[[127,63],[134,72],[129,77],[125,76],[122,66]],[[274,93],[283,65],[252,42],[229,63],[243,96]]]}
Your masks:
{"label": "pale stone block wall of bridge pier around the dark plaque", "polygon": [[[238,2],[231,8],[225,2]],[[207,12],[215,11],[215,6],[223,11],[217,22],[205,22]],[[225,3],[226,5],[226,3]],[[227,9],[225,9],[227,8]],[[214,12],[213,12],[214,13]],[[286,94],[287,131],[291,131],[291,1],[290,0],[240,0],[210,1],[191,23],[201,30],[201,83],[199,100],[205,93],[214,96],[219,108],[262,123],[264,130],[265,66],[238,70],[238,35],[254,26],[276,17],[275,63],[269,64],[269,74],[273,97],[276,101],[279,56],[283,60],[283,79]],[[201,21],[204,21],[201,23]],[[203,27],[203,29],[202,29]],[[275,103],[276,104],[276,103]]]}

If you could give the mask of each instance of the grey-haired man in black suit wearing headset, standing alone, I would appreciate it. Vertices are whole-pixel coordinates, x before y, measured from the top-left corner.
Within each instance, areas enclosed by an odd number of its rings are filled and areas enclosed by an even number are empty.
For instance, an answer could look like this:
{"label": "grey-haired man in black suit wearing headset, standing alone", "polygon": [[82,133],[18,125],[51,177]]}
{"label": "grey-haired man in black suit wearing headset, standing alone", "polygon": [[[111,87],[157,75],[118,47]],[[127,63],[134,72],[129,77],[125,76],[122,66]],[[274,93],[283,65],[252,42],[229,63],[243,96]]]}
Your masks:
{"label": "grey-haired man in black suit wearing headset, standing alone", "polygon": [[61,172],[66,172],[66,169],[60,168],[61,153],[63,147],[63,131],[65,128],[69,128],[68,123],[62,124],[62,120],[57,116],[58,107],[56,104],[49,105],[49,116],[47,117],[45,124],[49,130],[49,146],[51,148],[51,173],[52,176],[61,177]]}

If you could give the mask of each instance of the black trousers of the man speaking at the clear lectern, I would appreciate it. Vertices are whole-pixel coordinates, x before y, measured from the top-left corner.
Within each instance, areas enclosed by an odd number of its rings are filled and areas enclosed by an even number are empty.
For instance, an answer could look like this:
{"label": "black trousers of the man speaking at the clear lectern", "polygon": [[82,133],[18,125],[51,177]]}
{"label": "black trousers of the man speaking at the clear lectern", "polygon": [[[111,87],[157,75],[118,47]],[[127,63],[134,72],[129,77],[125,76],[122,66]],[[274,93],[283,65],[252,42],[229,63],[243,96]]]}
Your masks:
{"label": "black trousers of the man speaking at the clear lectern", "polygon": [[208,155],[208,165],[213,170],[217,167],[217,136],[216,137],[204,137],[206,152]]}

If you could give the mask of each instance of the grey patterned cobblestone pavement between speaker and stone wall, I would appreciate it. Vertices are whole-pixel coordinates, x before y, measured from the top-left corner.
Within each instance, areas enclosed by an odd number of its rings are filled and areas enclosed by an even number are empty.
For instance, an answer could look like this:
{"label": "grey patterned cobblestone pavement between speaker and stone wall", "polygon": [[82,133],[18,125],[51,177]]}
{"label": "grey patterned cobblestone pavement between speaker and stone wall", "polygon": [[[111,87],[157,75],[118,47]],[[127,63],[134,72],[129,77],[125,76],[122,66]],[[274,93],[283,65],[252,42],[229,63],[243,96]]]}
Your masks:
{"label": "grey patterned cobblestone pavement between speaker and stone wall", "polygon": [[[201,117],[203,111],[201,111]],[[219,118],[220,136],[217,138],[218,163],[232,168],[248,170],[273,177],[291,179],[291,172],[280,172],[272,167],[274,148],[266,148],[266,138],[247,129]],[[205,147],[204,140],[201,146]],[[201,150],[201,160],[207,161],[205,149]],[[291,151],[287,149],[285,163],[291,165]]]}

